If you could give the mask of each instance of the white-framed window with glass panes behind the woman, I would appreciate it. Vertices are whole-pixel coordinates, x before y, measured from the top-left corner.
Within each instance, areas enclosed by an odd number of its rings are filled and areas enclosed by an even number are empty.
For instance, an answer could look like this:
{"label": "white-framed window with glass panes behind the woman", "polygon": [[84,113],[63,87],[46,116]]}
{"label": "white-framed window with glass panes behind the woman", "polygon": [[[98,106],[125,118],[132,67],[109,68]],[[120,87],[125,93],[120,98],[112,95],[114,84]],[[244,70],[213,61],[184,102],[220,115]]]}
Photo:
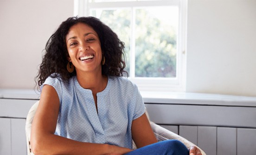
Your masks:
{"label": "white-framed window with glass panes behind the woman", "polygon": [[142,91],[185,89],[186,0],[75,0],[125,43],[126,71]]}

